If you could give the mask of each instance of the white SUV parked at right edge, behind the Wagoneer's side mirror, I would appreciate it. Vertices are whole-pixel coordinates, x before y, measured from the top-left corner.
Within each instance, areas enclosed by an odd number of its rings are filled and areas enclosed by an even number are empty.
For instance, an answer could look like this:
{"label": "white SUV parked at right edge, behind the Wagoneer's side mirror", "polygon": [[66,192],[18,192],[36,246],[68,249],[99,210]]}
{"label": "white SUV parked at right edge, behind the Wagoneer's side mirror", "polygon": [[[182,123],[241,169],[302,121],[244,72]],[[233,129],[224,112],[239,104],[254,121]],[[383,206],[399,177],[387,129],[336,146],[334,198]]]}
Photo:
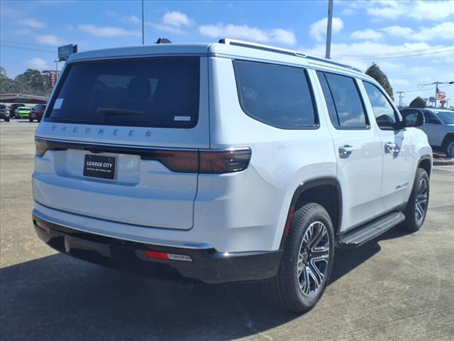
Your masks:
{"label": "white SUV parked at right edge, behind the Wagoneer's side mirror", "polygon": [[402,115],[423,112],[425,123],[421,130],[428,136],[428,143],[436,150],[454,158],[454,112],[448,109],[404,108]]}

